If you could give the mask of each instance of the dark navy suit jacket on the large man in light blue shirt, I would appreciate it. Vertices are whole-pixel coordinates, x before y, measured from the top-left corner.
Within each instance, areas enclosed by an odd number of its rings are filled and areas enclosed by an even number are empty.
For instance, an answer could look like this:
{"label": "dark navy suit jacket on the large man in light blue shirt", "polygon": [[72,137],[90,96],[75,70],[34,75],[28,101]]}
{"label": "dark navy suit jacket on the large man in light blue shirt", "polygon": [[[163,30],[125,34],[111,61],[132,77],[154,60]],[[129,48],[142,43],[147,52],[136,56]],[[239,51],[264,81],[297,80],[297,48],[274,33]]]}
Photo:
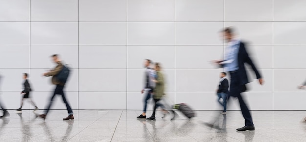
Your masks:
{"label": "dark navy suit jacket on the large man in light blue shirt", "polygon": [[[239,84],[240,85],[245,85],[245,84],[249,83],[244,63],[247,63],[252,67],[253,71],[256,74],[257,79],[262,78],[261,75],[259,74],[258,70],[256,69],[253,61],[249,57],[249,54],[247,53],[247,51],[245,49],[244,43],[240,42],[239,51],[238,51],[238,67],[239,67],[239,69],[237,71],[237,73],[240,76],[239,77]],[[222,66],[224,67],[224,65],[222,65]]]}

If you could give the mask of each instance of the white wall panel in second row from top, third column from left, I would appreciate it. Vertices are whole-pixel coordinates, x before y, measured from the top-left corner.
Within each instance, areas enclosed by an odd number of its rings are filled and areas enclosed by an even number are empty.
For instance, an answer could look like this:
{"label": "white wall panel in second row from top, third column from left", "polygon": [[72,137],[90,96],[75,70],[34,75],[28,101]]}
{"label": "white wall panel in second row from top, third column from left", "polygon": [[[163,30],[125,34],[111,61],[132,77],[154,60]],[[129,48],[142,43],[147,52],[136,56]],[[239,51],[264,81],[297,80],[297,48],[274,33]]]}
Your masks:
{"label": "white wall panel in second row from top, third column from left", "polygon": [[127,23],[86,22],[79,24],[81,45],[125,45]]}

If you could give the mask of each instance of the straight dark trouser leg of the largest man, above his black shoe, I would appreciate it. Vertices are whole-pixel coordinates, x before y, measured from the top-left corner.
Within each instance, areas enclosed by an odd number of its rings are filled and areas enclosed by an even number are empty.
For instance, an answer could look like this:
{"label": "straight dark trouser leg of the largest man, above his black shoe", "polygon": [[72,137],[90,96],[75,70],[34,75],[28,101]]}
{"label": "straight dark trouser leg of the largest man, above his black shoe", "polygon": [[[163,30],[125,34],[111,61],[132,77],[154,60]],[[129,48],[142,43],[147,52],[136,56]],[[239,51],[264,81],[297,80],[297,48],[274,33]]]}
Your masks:
{"label": "straight dark trouser leg of the largest man, above his black shoe", "polygon": [[239,94],[239,96],[238,96],[238,101],[239,101],[239,104],[240,104],[242,115],[245,119],[245,126],[254,126],[251,113],[250,113],[247,105],[245,104],[241,94]]}

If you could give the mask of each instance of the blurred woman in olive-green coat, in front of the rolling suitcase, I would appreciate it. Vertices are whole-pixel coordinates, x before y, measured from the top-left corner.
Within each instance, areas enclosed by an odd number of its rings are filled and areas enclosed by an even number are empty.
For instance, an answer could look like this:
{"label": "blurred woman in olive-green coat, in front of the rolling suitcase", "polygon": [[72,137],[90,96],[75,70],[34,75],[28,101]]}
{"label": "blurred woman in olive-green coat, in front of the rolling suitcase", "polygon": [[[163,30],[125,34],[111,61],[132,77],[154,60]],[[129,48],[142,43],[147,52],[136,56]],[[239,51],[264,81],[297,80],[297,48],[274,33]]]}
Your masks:
{"label": "blurred woman in olive-green coat, in front of the rolling suitcase", "polygon": [[154,88],[154,94],[153,94],[153,99],[155,101],[155,105],[154,105],[154,111],[151,115],[151,117],[147,118],[149,120],[156,120],[155,119],[155,112],[157,109],[157,102],[162,98],[162,96],[164,95],[164,75],[161,72],[161,68],[160,68],[160,64],[156,63],[155,64],[155,70],[156,70],[156,77],[153,80],[156,83],[156,86]]}

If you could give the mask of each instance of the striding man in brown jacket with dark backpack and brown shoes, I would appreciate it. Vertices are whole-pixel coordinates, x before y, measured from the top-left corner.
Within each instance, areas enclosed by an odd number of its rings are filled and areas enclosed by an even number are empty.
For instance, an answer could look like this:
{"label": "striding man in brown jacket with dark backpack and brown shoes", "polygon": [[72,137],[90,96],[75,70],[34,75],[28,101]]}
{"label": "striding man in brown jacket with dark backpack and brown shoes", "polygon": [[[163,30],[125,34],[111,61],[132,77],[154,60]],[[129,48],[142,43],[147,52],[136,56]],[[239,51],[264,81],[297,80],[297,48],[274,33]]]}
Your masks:
{"label": "striding man in brown jacket with dark backpack and brown shoes", "polygon": [[55,97],[55,95],[61,95],[62,96],[62,99],[63,99],[63,102],[66,104],[66,107],[67,107],[67,110],[68,110],[68,117],[66,118],[63,118],[63,120],[73,120],[74,117],[73,117],[73,112],[72,112],[72,109],[69,105],[69,103],[67,102],[66,100],[66,97],[64,95],[64,86],[65,86],[65,83],[67,81],[67,78],[69,76],[69,69],[63,65],[60,61],[60,59],[58,58],[58,55],[52,55],[52,59],[54,61],[54,63],[57,64],[57,66],[54,68],[54,70],[51,70],[50,72],[46,72],[43,74],[43,76],[52,76],[52,84],[56,85],[55,87],[55,91],[51,97],[51,100],[50,100],[50,103],[49,105],[47,106],[47,109],[45,110],[44,114],[40,115],[41,118],[45,119],[49,110],[50,110],[50,107],[52,106],[52,103],[53,103],[53,99]]}

